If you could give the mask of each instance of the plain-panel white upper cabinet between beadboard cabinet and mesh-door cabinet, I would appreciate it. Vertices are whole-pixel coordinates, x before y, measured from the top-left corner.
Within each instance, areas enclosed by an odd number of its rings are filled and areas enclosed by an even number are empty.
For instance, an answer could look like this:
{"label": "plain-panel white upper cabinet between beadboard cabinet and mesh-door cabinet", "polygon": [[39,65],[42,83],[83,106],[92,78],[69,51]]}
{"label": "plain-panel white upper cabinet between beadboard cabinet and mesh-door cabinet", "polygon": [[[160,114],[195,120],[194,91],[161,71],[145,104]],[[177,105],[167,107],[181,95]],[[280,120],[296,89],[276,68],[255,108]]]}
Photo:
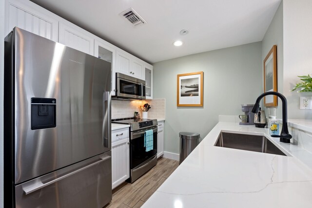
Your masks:
{"label": "plain-panel white upper cabinet between beadboard cabinet and mesh-door cabinet", "polygon": [[94,36],[70,22],[59,22],[59,43],[94,55]]}

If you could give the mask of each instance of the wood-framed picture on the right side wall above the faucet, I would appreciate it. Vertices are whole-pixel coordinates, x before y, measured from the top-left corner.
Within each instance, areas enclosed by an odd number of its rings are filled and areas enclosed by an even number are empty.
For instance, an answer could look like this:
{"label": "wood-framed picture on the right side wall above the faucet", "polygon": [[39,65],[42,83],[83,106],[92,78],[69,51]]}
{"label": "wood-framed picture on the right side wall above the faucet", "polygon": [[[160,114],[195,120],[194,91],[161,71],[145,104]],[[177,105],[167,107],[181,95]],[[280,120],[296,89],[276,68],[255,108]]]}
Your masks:
{"label": "wood-framed picture on the right side wall above the faucet", "polygon": [[[268,55],[263,60],[264,92],[277,92],[277,58],[276,45],[273,45]],[[264,97],[264,106],[277,106],[277,96],[267,95]]]}

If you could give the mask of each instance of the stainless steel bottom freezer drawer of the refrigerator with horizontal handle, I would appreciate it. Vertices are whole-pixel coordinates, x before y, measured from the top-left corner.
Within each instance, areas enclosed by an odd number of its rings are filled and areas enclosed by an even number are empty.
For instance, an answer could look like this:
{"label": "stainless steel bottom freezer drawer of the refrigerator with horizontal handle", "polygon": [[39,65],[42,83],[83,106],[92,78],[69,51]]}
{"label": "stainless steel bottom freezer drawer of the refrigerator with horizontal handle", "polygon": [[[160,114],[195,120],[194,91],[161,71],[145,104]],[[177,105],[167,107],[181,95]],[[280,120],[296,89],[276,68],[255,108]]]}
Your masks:
{"label": "stainless steel bottom freezer drawer of the refrigerator with horizontal handle", "polygon": [[16,186],[16,208],[102,208],[112,200],[111,151]]}

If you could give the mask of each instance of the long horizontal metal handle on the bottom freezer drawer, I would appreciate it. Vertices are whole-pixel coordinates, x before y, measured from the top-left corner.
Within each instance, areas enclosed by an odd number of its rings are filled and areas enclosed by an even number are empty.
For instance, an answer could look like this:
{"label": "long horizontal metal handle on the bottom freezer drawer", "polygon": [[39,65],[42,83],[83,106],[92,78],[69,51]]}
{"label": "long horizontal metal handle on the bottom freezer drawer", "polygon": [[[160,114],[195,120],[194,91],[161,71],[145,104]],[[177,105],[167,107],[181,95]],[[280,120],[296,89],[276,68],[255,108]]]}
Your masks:
{"label": "long horizontal metal handle on the bottom freezer drawer", "polygon": [[65,174],[65,175],[63,175],[63,176],[61,176],[61,177],[59,177],[59,178],[57,178],[57,179],[54,179],[54,180],[52,180],[52,181],[49,181],[49,182],[47,182],[47,183],[42,183],[41,181],[38,181],[37,183],[32,184],[31,186],[23,187],[24,193],[25,193],[26,195],[27,195],[27,194],[30,194],[30,193],[32,193],[32,192],[34,192],[34,191],[36,191],[36,190],[42,189],[42,188],[44,188],[44,187],[46,187],[46,186],[49,186],[50,184],[56,183],[56,182],[58,182],[58,181],[60,181],[60,180],[62,180],[62,179],[64,179],[64,178],[67,178],[67,177],[69,177],[69,176],[71,176],[71,175],[74,175],[74,174],[76,174],[76,173],[78,173],[78,172],[80,172],[80,171],[82,171],[82,170],[88,169],[88,168],[90,168],[91,166],[97,165],[98,163],[101,163],[101,162],[103,162],[103,161],[105,161],[105,160],[107,160],[107,159],[110,159],[111,157],[112,157],[112,156],[106,156],[106,157],[104,157],[104,158],[101,158],[100,160],[98,160],[98,161],[95,162],[95,163],[92,163],[92,164],[90,164],[90,165],[87,165],[87,166],[85,166],[85,167],[83,167],[83,168],[81,168],[81,169],[72,171],[72,172],[70,172],[70,173],[68,173],[68,174]]}

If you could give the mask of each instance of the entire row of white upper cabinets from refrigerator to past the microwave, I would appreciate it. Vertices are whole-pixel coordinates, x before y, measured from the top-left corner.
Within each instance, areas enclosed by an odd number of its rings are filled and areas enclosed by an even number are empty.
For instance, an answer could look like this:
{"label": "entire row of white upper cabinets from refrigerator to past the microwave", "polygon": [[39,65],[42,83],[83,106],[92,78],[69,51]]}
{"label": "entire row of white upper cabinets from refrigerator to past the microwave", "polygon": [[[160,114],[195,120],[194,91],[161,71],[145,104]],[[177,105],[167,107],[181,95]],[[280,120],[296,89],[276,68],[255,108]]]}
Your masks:
{"label": "entire row of white upper cabinets from refrigerator to past the microwave", "polygon": [[143,60],[29,0],[5,0],[4,35],[16,26],[111,62],[113,96],[116,94],[116,72],[119,72],[146,80],[146,98],[153,99],[153,66]]}

